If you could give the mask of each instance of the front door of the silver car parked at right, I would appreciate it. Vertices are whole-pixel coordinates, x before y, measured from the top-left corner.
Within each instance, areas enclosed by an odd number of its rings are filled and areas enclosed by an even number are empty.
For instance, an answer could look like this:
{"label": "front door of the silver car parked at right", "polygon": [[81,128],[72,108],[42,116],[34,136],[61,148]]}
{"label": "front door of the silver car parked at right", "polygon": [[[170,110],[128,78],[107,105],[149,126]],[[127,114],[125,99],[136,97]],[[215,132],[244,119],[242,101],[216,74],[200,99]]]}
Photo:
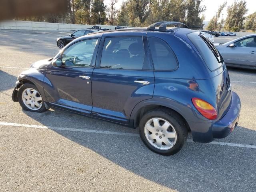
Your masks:
{"label": "front door of the silver car parked at right", "polygon": [[227,46],[222,52],[227,64],[256,66],[256,37],[238,40],[233,47]]}

